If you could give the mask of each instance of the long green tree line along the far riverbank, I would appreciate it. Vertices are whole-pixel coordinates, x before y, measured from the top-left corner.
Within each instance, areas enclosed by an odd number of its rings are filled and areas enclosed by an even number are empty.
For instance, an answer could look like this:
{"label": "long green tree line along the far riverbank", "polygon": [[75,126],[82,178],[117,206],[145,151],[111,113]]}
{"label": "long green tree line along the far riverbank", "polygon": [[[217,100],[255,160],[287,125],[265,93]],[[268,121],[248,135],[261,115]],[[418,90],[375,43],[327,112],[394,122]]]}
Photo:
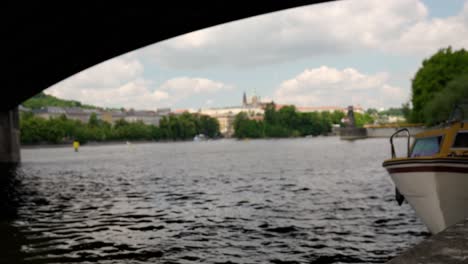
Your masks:
{"label": "long green tree line along the far riverbank", "polygon": [[[342,112],[300,113],[294,106],[276,111],[273,103],[265,109],[264,120],[252,120],[240,113],[234,120],[236,138],[279,138],[307,135],[326,135],[333,124],[341,124]],[[370,122],[367,114],[356,114],[358,126]],[[87,123],[68,119],[65,115],[44,119],[29,112],[20,115],[21,143],[25,146],[70,144],[74,140],[82,144],[122,141],[184,141],[203,134],[208,138],[222,137],[217,119],[183,113],[163,117],[159,126],[143,122],[127,122],[123,119],[111,125],[99,120],[95,114]]]}

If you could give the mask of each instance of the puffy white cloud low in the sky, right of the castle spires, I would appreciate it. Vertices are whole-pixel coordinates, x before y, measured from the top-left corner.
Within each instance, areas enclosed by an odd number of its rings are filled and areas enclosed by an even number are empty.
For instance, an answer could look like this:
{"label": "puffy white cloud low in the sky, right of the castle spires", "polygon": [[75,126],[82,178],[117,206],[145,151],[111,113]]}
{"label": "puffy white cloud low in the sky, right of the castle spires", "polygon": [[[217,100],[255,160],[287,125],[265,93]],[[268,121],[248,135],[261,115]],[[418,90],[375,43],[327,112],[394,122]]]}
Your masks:
{"label": "puffy white cloud low in the sky, right of the castle spires", "polygon": [[408,91],[388,84],[388,79],[387,73],[367,75],[353,68],[321,66],[281,83],[273,99],[298,106],[399,106],[407,99]]}

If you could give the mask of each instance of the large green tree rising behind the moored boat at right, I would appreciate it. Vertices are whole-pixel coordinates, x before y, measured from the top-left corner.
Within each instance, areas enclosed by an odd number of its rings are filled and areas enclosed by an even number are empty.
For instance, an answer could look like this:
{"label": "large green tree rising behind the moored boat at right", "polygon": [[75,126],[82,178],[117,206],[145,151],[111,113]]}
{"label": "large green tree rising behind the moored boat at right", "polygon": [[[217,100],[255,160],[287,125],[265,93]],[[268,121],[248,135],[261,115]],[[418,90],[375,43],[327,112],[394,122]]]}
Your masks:
{"label": "large green tree rising behind the moored boat at right", "polygon": [[467,99],[467,75],[468,52],[464,49],[440,49],[424,60],[412,80],[410,120],[427,125],[447,120],[455,104]]}

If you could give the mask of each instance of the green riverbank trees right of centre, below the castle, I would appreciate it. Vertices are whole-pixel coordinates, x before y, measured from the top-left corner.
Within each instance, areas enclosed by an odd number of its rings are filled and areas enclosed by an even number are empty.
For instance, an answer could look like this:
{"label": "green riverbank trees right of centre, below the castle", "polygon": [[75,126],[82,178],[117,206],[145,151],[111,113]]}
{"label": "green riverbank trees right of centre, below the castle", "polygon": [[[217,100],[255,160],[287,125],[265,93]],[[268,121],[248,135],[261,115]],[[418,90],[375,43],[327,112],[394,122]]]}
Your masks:
{"label": "green riverbank trees right of centre, below the castle", "polygon": [[[294,106],[284,106],[276,110],[270,103],[265,108],[263,120],[249,118],[239,113],[234,120],[234,136],[237,138],[280,138],[326,135],[331,132],[332,124],[342,125],[343,112],[301,113]],[[356,125],[362,127],[373,120],[368,114],[355,113]]]}

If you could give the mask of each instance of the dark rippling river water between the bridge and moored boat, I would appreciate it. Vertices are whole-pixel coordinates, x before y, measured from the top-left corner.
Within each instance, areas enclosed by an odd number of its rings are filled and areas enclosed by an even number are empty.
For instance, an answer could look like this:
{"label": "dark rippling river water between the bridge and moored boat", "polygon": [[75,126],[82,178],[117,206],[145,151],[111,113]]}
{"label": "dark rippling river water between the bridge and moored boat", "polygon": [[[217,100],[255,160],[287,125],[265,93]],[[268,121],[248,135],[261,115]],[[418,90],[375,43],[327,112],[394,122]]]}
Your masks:
{"label": "dark rippling river water between the bridge and moored boat", "polygon": [[389,155],[337,137],[23,149],[3,260],[384,263],[429,235]]}

